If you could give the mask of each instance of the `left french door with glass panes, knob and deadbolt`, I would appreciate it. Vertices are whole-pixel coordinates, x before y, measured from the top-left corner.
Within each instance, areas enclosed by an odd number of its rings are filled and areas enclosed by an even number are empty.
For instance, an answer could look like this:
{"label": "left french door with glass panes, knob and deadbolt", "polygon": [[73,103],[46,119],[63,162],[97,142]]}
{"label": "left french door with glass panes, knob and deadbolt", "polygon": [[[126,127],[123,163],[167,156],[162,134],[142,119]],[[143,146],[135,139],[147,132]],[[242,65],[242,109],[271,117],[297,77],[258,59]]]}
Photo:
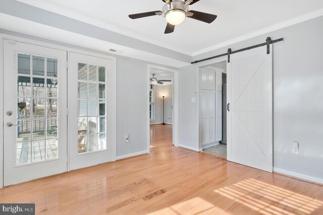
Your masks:
{"label": "left french door with glass panes, knob and deadbolt", "polygon": [[67,52],[4,40],[4,185],[67,171]]}

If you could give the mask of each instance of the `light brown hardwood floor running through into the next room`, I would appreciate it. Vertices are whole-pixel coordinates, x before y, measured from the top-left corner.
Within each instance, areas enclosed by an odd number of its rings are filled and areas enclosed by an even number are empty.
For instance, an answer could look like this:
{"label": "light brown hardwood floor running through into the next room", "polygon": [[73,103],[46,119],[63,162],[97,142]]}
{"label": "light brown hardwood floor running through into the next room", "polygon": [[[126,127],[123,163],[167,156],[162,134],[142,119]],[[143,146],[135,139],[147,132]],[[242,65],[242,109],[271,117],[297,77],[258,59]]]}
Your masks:
{"label": "light brown hardwood floor running through into the next room", "polygon": [[37,214],[323,214],[323,187],[172,146],[153,125],[151,153],[0,189]]}

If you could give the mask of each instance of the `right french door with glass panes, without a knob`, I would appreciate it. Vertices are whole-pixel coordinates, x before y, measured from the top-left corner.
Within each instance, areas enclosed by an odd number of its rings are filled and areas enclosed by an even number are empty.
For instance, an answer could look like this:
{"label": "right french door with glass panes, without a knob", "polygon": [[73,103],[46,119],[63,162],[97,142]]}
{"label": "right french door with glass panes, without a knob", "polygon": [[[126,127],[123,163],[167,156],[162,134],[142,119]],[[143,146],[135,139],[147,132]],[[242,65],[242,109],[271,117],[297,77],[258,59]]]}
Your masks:
{"label": "right french door with glass panes, without a knob", "polygon": [[[69,163],[70,170],[114,160],[114,120],[108,108],[113,95],[110,78],[113,60],[69,55]],[[110,100],[109,100],[110,101]]]}

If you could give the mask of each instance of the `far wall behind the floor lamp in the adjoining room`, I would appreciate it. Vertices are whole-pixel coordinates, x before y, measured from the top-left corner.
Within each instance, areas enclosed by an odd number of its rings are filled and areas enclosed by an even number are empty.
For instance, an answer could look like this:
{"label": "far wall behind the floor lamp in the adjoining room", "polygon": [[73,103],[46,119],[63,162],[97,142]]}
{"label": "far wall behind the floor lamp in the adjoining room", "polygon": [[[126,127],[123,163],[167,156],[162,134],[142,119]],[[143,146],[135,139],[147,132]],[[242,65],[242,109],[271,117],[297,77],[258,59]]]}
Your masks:
{"label": "far wall behind the floor lamp in the adjoining room", "polygon": [[154,85],[155,119],[150,124],[161,124],[163,120],[163,95],[165,95],[165,123],[173,124],[173,85]]}

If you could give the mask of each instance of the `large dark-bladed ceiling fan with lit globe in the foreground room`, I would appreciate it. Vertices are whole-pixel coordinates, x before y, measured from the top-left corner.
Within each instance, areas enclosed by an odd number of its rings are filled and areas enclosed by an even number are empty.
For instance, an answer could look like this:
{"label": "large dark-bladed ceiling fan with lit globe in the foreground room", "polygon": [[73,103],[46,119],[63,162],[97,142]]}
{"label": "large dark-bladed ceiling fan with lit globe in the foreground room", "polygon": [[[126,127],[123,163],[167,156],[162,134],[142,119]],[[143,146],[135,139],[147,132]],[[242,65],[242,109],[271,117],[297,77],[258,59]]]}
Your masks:
{"label": "large dark-bladed ceiling fan with lit globe in the foreground room", "polygon": [[151,11],[140,14],[131,14],[129,18],[139,19],[150,16],[163,15],[167,20],[165,34],[174,32],[175,26],[184,22],[185,18],[191,18],[206,23],[212,23],[217,19],[217,15],[207,14],[199,11],[189,11],[189,6],[200,0],[162,0],[166,3],[163,11]]}

